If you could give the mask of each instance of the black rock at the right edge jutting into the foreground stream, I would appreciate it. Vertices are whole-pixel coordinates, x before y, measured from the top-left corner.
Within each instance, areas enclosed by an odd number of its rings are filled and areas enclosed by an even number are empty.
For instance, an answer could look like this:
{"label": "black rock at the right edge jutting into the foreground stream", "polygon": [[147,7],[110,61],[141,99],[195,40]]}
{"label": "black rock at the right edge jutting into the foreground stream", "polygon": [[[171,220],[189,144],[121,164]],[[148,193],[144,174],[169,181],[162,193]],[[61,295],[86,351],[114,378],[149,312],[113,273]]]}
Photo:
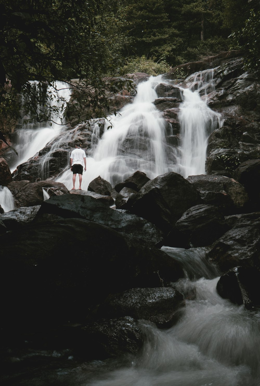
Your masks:
{"label": "black rock at the right edge jutting into the foreground stream", "polygon": [[252,267],[235,267],[224,273],[216,286],[218,294],[248,309],[260,307],[260,271]]}

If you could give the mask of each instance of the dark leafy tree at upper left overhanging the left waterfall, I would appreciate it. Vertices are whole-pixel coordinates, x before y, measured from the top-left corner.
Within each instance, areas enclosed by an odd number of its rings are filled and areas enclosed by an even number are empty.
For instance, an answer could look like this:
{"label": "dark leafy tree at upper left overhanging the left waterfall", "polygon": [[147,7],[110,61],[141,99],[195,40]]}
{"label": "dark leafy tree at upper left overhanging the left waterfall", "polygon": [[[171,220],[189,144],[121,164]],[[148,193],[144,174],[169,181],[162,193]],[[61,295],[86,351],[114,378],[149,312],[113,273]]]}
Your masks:
{"label": "dark leafy tree at upper left overhanging the left waterfall", "polygon": [[122,65],[119,30],[107,0],[0,0],[0,3],[3,115],[18,113],[16,95],[22,92],[28,101],[25,108],[35,110],[37,120],[48,119],[44,109],[36,110],[42,95],[30,83],[33,80],[46,90],[55,80],[79,79],[77,87],[84,94],[83,102],[94,113],[98,113],[102,103],[106,104],[109,93],[125,83],[107,78],[117,74]]}

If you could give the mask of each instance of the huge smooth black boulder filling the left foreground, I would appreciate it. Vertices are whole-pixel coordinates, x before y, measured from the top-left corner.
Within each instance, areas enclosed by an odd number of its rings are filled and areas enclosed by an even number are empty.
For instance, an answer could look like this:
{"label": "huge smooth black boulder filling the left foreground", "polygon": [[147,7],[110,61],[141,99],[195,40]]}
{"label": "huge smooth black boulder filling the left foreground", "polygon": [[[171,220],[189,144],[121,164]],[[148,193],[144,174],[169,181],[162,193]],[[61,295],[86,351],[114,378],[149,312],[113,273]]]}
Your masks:
{"label": "huge smooth black boulder filling the left foreground", "polygon": [[183,276],[178,262],[144,240],[79,218],[30,224],[0,236],[0,243],[8,256],[2,323],[16,330],[78,322],[111,293]]}

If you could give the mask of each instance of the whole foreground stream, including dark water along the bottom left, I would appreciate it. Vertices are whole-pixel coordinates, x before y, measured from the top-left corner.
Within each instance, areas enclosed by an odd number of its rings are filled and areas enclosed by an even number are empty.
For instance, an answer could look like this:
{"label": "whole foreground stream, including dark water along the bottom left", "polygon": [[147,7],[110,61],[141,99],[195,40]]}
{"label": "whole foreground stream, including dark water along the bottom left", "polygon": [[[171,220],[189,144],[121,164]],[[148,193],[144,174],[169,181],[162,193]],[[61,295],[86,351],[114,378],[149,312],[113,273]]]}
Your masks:
{"label": "whole foreground stream, including dark water along the bottom left", "polygon": [[140,321],[145,342],[137,356],[83,362],[69,349],[23,349],[5,384],[259,386],[260,314],[218,296],[218,271],[206,262],[204,249],[163,250],[185,269],[186,278],[173,283],[186,298],[178,323],[159,330]]}

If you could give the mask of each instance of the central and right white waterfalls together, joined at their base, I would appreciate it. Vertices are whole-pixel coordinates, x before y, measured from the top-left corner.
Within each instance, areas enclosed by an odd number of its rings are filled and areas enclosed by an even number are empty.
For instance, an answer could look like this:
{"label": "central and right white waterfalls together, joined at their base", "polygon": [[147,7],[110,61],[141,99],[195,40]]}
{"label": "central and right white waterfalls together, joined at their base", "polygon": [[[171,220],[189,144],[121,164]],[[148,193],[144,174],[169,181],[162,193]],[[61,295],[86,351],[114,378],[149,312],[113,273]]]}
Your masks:
{"label": "central and right white waterfalls together, joined at their base", "polygon": [[[185,178],[206,173],[207,139],[221,125],[220,114],[200,97],[213,90],[213,70],[198,73],[195,78],[193,75],[187,81],[189,88],[179,87],[184,100],[179,112],[181,145],[174,148],[167,142],[168,124],[153,103],[158,98],[155,89],[162,76],[150,77],[138,85],[133,103],[123,107],[118,115],[108,117],[101,140],[87,157],[84,190],[99,175],[114,186],[137,170],[151,179],[169,171]],[[66,170],[57,181],[70,189],[71,179],[70,170]]]}

